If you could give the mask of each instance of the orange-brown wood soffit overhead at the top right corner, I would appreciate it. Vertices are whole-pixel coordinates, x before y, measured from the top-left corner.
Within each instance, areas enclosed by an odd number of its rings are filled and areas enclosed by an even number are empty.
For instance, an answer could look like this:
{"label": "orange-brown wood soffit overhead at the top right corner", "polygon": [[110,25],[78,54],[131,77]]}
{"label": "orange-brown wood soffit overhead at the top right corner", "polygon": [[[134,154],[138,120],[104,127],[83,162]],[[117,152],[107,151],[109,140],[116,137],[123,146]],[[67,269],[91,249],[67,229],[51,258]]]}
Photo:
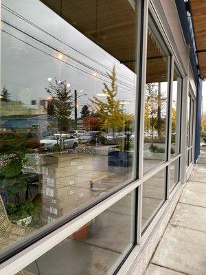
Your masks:
{"label": "orange-brown wood soffit overhead at the top right corner", "polygon": [[206,78],[206,0],[190,0],[201,76]]}

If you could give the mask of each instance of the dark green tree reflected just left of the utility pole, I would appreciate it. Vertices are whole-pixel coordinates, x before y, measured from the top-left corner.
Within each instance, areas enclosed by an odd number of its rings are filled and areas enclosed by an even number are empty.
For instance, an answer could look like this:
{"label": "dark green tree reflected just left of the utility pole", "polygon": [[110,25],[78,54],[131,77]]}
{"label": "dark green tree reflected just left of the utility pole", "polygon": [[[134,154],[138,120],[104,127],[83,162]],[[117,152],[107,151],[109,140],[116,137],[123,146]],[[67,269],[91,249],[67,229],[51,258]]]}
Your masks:
{"label": "dark green tree reflected just left of the utility pole", "polygon": [[[47,93],[52,96],[52,111],[54,118],[57,120],[58,131],[67,131],[69,129],[70,115],[73,110],[73,96],[71,90],[67,89],[66,80],[49,83],[45,88]],[[52,107],[52,108],[53,108]]]}

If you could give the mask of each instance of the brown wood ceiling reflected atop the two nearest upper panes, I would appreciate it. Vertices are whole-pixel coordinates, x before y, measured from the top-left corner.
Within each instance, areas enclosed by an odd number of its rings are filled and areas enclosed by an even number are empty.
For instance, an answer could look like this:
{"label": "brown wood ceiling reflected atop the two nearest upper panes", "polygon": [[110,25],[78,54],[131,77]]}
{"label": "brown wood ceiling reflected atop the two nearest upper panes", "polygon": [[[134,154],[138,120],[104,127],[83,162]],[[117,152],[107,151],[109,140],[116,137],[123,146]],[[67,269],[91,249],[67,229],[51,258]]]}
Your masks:
{"label": "brown wood ceiling reflected atop the two nearest upper panes", "polygon": [[[65,21],[135,72],[136,23],[133,0],[41,0]],[[98,6],[96,5],[98,3]],[[147,83],[167,81],[167,62],[148,33]]]}

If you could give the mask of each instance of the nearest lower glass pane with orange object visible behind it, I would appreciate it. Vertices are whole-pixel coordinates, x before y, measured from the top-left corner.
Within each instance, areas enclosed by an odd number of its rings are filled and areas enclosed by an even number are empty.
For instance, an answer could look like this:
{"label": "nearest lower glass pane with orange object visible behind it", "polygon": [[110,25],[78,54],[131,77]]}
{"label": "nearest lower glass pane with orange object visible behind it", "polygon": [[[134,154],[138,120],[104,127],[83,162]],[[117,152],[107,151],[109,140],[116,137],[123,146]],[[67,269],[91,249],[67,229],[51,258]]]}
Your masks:
{"label": "nearest lower glass pane with orange object visible behind it", "polygon": [[133,193],[25,267],[34,275],[113,274],[133,245]]}

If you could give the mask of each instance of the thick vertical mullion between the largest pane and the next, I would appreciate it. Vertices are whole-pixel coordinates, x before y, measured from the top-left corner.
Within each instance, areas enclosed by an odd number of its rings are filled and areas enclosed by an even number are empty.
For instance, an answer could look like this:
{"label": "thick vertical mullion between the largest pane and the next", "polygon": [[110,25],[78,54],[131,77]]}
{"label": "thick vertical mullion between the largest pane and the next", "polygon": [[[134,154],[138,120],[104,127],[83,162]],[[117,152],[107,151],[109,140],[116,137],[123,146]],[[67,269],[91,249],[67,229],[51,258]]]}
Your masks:
{"label": "thick vertical mullion between the largest pane and the next", "polygon": [[[138,129],[139,129],[139,161],[137,165],[139,179],[143,177],[144,163],[144,102],[146,90],[146,58],[147,58],[147,39],[148,39],[148,0],[141,1],[141,36],[139,47],[139,97],[137,102]],[[138,71],[137,71],[138,72]],[[137,194],[137,244],[141,243],[141,217],[142,217],[142,184],[138,187]]]}

